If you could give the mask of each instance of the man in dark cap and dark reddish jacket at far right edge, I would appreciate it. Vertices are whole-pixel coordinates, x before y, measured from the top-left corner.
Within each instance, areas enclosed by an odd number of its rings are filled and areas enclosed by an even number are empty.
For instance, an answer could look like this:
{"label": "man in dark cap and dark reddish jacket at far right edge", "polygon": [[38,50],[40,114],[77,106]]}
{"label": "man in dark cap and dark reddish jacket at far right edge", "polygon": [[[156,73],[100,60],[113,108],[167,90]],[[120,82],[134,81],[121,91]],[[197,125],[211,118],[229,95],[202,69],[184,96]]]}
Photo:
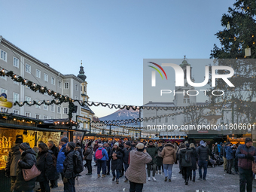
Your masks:
{"label": "man in dark cap and dark reddish jacket at far right edge", "polygon": [[256,157],[256,148],[252,146],[251,138],[245,139],[245,145],[239,145],[236,150],[236,157],[238,158],[239,170],[239,188],[240,191],[252,191],[253,173],[251,163]]}

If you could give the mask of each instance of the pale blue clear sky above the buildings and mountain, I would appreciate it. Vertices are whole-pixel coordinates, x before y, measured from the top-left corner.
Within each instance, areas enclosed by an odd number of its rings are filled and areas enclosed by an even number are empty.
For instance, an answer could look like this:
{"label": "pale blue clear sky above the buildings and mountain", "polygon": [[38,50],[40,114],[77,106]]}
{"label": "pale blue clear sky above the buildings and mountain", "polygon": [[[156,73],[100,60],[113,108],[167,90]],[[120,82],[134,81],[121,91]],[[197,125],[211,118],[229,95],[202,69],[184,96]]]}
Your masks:
{"label": "pale blue clear sky above the buildings and mountain", "polygon": [[63,74],[83,60],[90,101],[142,105],[143,59],[208,59],[234,2],[1,0],[0,35]]}

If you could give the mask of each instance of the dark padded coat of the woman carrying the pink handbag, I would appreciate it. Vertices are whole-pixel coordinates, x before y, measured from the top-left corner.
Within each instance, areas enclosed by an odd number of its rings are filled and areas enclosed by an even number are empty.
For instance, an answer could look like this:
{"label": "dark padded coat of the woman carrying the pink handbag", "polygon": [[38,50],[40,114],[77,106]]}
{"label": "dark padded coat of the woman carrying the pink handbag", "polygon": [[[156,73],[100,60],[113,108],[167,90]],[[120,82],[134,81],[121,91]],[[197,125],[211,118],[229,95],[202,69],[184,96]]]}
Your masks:
{"label": "dark padded coat of the woman carrying the pink handbag", "polygon": [[35,188],[35,179],[25,181],[23,178],[23,169],[31,169],[36,164],[35,151],[32,148],[23,151],[20,162],[17,166],[17,179],[14,184],[14,190],[32,190]]}

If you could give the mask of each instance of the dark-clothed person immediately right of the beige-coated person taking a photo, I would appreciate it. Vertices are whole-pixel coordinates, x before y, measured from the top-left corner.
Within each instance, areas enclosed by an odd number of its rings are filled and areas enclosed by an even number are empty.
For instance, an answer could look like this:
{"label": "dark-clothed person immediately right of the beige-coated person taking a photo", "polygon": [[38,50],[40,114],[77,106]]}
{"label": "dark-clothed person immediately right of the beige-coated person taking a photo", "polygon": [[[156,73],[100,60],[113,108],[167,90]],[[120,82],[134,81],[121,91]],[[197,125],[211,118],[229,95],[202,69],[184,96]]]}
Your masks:
{"label": "dark-clothed person immediately right of the beige-coated person taking a photo", "polygon": [[152,157],[151,162],[147,164],[148,181],[151,181],[151,169],[153,169],[152,179],[153,181],[157,181],[157,179],[154,178],[157,169],[157,147],[154,145],[152,140],[148,142],[147,152]]}

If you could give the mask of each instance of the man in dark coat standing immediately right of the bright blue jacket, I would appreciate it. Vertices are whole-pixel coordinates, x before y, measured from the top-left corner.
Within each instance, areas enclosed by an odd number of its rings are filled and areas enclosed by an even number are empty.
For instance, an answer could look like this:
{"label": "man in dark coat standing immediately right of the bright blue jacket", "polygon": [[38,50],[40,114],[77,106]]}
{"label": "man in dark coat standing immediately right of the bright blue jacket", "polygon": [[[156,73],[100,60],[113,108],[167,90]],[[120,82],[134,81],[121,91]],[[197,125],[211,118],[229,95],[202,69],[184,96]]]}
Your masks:
{"label": "man in dark coat standing immediately right of the bright blue jacket", "polygon": [[66,159],[63,162],[63,182],[65,192],[75,192],[74,154],[75,143],[68,142],[66,145]]}

